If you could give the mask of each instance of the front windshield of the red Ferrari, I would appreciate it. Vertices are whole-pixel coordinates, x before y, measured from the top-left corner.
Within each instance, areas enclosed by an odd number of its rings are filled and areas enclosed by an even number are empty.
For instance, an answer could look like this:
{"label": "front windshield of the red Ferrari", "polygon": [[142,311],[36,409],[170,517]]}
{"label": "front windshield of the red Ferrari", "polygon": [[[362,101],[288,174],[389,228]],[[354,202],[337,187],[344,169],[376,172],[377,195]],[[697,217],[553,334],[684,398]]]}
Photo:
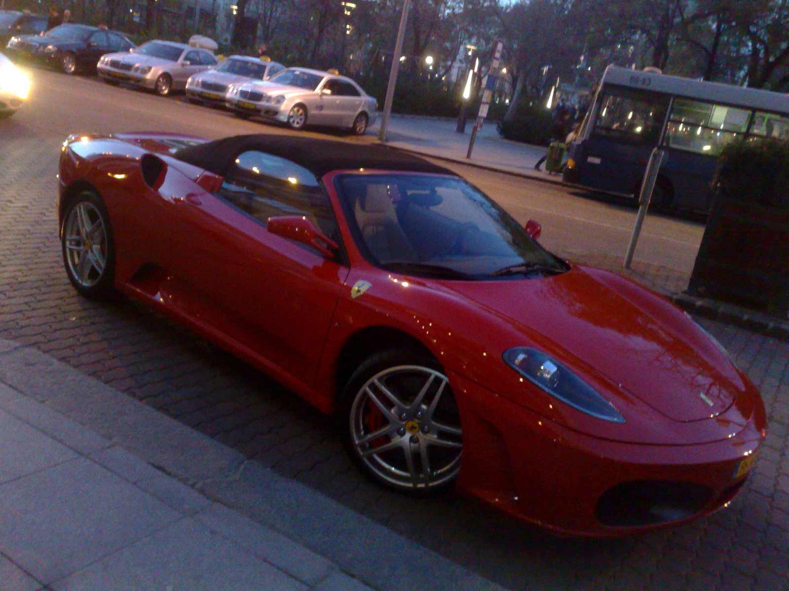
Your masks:
{"label": "front windshield of the red Ferrari", "polygon": [[384,269],[475,280],[567,270],[465,180],[343,174],[336,186],[360,250]]}

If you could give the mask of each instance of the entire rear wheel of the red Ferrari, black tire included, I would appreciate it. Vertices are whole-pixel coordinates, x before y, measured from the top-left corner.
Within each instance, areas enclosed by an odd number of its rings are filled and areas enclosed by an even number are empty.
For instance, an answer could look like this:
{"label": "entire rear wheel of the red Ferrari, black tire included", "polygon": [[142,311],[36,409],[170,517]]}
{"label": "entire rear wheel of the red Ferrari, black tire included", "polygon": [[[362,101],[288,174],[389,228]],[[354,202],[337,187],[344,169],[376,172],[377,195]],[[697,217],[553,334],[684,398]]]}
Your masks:
{"label": "entire rear wheel of the red Ferrari, black tire included", "polygon": [[[87,216],[89,229],[80,216]],[[112,299],[116,295],[114,233],[99,195],[82,191],[69,200],[63,211],[60,242],[65,273],[80,296]]]}

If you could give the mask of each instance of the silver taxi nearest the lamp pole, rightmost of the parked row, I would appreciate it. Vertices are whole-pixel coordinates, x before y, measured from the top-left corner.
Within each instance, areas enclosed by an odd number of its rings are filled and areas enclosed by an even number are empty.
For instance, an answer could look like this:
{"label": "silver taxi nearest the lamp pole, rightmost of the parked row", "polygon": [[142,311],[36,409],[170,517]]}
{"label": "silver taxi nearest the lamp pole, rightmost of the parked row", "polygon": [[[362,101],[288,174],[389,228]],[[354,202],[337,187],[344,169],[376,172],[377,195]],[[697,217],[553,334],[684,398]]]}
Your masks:
{"label": "silver taxi nearest the lamp pole, rightmost of the parked row", "polygon": [[308,124],[351,128],[361,136],[376,120],[378,102],[345,76],[288,68],[270,80],[233,84],[227,106],[238,117],[263,117],[293,129]]}

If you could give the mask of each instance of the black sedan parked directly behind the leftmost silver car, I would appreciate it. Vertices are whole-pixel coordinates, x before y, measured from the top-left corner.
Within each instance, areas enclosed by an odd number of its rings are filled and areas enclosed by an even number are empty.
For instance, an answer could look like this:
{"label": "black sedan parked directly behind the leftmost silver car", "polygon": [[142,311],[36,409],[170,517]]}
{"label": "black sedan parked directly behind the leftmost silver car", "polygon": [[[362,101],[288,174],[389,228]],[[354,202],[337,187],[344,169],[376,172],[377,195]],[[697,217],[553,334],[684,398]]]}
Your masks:
{"label": "black sedan parked directly behind the leftmost silver car", "polygon": [[17,35],[8,42],[10,57],[52,65],[66,74],[92,72],[104,54],[133,48],[123,33],[86,24],[60,24],[44,35]]}

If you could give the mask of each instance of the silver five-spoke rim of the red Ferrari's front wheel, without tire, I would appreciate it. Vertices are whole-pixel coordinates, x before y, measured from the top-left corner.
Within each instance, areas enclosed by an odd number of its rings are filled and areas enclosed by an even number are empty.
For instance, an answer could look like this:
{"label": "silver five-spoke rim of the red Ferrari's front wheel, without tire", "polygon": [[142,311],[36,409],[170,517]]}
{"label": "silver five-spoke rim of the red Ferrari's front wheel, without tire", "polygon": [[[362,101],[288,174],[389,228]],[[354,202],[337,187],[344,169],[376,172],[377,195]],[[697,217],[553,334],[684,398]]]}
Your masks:
{"label": "silver five-spoke rim of the red Ferrari's front wheel, without tire", "polygon": [[[429,367],[381,371],[362,386],[351,405],[354,452],[379,478],[399,489],[446,484],[460,470],[463,448],[459,419],[443,411],[451,396],[447,377]],[[450,420],[455,424],[448,424]]]}

